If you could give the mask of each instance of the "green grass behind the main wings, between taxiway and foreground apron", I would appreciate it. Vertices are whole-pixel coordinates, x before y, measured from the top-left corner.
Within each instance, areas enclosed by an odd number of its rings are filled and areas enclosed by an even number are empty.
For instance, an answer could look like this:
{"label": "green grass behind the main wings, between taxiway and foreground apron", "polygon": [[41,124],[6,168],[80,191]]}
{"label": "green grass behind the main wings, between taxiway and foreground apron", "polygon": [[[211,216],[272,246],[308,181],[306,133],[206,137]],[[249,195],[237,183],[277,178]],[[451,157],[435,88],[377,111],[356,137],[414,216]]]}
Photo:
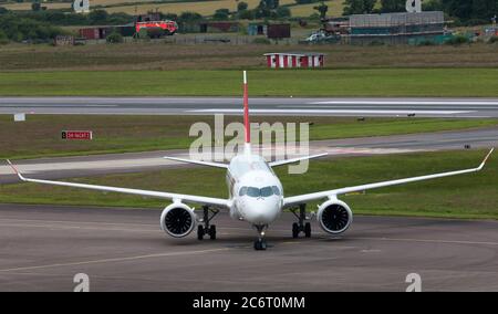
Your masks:
{"label": "green grass behind the main wings, between taxiway and foreground apron", "polygon": [[[476,167],[485,151],[446,151],[323,160],[299,180],[281,168],[287,196],[365,182]],[[227,197],[225,172],[212,168],[173,169],[72,181]],[[341,197],[355,213],[498,219],[498,158],[479,174],[372,190]],[[79,189],[15,184],[0,186],[0,202],[163,208],[165,200]],[[314,210],[311,205],[309,209]]]}

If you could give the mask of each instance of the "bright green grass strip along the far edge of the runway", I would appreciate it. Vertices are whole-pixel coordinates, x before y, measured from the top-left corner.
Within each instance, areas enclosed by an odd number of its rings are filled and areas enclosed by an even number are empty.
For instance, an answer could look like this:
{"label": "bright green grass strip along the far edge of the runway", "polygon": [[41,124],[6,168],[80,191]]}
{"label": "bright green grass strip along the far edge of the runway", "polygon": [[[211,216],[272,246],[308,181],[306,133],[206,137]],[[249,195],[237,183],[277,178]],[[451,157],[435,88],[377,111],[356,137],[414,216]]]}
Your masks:
{"label": "bright green grass strip along the far edge of the runway", "polygon": [[[240,71],[3,72],[0,96],[238,96]],[[259,70],[251,96],[497,96],[498,69]]]}

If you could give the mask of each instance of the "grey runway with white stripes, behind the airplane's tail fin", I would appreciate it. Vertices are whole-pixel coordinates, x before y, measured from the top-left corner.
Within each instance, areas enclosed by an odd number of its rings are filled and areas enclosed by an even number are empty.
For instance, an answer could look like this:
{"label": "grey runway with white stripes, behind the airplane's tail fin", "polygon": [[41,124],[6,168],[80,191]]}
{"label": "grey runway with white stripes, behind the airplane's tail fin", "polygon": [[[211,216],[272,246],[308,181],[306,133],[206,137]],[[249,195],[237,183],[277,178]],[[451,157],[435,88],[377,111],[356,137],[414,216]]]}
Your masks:
{"label": "grey runway with white stripes, behind the airplane's tail fin", "polygon": [[[0,97],[0,114],[241,114],[241,97]],[[498,117],[498,98],[251,97],[251,114]]]}

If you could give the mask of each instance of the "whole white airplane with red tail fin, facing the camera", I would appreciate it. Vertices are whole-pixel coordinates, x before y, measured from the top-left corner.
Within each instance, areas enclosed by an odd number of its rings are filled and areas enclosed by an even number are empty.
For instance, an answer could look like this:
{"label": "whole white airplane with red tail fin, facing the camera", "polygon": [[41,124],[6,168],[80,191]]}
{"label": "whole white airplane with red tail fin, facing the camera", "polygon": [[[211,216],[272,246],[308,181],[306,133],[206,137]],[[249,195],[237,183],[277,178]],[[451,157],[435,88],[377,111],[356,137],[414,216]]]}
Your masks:
{"label": "whole white airplane with red tail fin, facing the camera", "polygon": [[[292,164],[304,159],[318,158],[326,154],[268,163],[261,156],[251,153],[246,72],[243,72],[243,121],[246,128],[246,143],[243,146],[243,151],[234,157],[230,160],[230,164],[165,157],[172,160],[226,169],[229,190],[228,199],[30,179],[22,176],[22,174],[19,172],[10,160],[7,161],[12,166],[19,178],[28,182],[122,192],[173,200],[172,205],[166,207],[160,214],[160,227],[166,233],[175,238],[188,236],[196,228],[196,226],[198,226],[197,237],[199,240],[201,240],[206,234],[208,234],[212,240],[216,239],[216,226],[210,224],[210,221],[219,212],[219,210],[228,210],[232,219],[247,221],[256,228],[259,237],[255,241],[255,249],[266,250],[267,242],[264,239],[264,231],[279,218],[284,209],[290,209],[298,220],[298,222],[292,224],[292,237],[298,238],[299,233],[303,232],[305,237],[309,238],[311,237],[311,224],[310,222],[304,223],[304,221],[309,219],[305,216],[305,205],[312,200],[324,199],[324,202],[322,202],[318,208],[318,222],[325,232],[331,234],[340,234],[350,227],[353,221],[353,212],[345,202],[338,199],[338,196],[415,181],[477,172],[484,168],[487,159],[494,150],[491,149],[489,151],[479,167],[473,169],[284,197],[282,184],[273,172],[272,167]],[[204,211],[203,218],[199,219],[194,211],[194,208],[186,203],[200,205]],[[298,210],[299,213],[297,212]]]}

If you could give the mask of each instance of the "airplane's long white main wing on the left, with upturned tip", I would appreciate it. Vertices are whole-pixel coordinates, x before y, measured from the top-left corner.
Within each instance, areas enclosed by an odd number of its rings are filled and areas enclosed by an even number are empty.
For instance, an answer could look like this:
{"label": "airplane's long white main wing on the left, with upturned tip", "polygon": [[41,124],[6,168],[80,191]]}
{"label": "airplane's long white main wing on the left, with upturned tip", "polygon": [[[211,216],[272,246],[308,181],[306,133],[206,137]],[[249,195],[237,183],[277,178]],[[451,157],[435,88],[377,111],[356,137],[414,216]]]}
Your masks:
{"label": "airplane's long white main wing on the left, with upturned tip", "polygon": [[9,165],[15,171],[18,177],[22,181],[25,181],[25,182],[35,182],[35,184],[42,184],[42,185],[63,186],[63,187],[98,190],[98,191],[148,196],[148,197],[155,197],[155,198],[169,199],[173,201],[185,201],[185,202],[194,202],[194,203],[199,203],[199,205],[211,205],[211,206],[221,207],[221,208],[230,208],[230,206],[231,206],[230,200],[220,199],[220,198],[169,193],[169,192],[162,192],[162,191],[139,190],[139,189],[128,189],[128,188],[116,188],[116,187],[106,187],[106,186],[95,186],[95,185],[85,185],[85,184],[73,184],[73,182],[64,182],[64,181],[30,179],[30,178],[25,178],[24,176],[22,176],[22,174],[12,165],[12,163],[10,163],[10,160],[7,160],[7,163],[9,163]]}

